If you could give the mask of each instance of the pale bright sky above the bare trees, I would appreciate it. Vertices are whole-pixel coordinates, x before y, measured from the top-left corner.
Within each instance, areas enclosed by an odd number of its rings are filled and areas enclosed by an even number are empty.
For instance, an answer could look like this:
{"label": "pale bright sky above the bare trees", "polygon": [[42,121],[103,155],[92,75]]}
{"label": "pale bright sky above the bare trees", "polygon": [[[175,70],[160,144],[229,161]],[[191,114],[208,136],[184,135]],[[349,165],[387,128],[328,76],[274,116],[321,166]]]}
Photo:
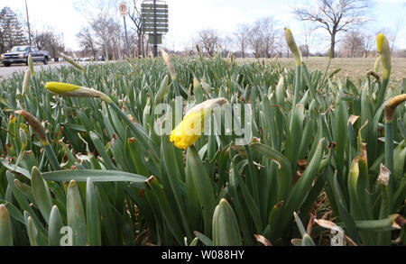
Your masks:
{"label": "pale bright sky above the bare trees", "polygon": [[[300,43],[303,23],[295,20],[291,7],[312,5],[317,0],[167,0],[170,8],[170,32],[164,45],[177,50],[191,46],[196,32],[205,28],[216,29],[223,34],[235,32],[239,23],[253,23],[264,16],[273,16],[278,27],[288,26]],[[406,48],[406,0],[372,0],[373,7],[368,14],[373,20],[369,32],[385,27],[398,30],[396,46]],[[30,21],[34,27],[47,24],[56,32],[63,32],[63,40],[71,50],[77,50],[77,32],[87,22],[68,0],[27,0]],[[25,15],[24,0],[0,0],[0,8],[9,6]],[[118,15],[118,14],[117,14]],[[321,31],[322,32],[322,31]],[[312,51],[327,50],[328,41],[318,38]]]}

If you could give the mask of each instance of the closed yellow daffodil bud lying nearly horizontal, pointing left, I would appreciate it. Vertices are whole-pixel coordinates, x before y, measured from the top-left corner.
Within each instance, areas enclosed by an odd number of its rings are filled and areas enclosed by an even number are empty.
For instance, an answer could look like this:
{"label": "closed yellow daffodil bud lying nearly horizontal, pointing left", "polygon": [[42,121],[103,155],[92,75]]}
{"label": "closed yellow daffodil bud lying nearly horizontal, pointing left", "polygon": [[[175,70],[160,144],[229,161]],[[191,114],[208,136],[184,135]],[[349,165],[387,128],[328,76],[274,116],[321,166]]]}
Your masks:
{"label": "closed yellow daffodil bud lying nearly horizontal, pointing left", "polygon": [[109,96],[106,94],[99,92],[93,88],[82,87],[82,86],[75,86],[65,83],[57,83],[57,82],[49,82],[45,85],[51,93],[60,95],[60,96],[68,96],[68,97],[97,97],[108,104],[113,103]]}

